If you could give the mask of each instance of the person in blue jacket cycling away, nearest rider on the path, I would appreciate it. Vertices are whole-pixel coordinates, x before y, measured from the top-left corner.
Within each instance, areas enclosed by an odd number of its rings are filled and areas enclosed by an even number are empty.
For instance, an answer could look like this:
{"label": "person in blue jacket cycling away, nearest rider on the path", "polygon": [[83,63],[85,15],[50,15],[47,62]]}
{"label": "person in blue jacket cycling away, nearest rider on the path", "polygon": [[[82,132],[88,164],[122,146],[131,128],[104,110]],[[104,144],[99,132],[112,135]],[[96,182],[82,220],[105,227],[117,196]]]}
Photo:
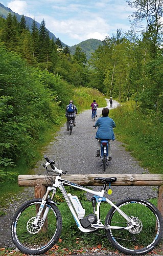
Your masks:
{"label": "person in blue jacket cycling away, nearest rider on the path", "polygon": [[108,140],[108,160],[111,160],[111,148],[110,148],[110,140],[114,140],[113,127],[115,127],[115,123],[113,119],[109,116],[109,109],[103,108],[102,117],[98,118],[95,123],[95,127],[98,127],[98,131],[96,133],[96,139],[98,140],[98,148],[97,148],[97,157],[100,156],[101,150],[101,139]]}

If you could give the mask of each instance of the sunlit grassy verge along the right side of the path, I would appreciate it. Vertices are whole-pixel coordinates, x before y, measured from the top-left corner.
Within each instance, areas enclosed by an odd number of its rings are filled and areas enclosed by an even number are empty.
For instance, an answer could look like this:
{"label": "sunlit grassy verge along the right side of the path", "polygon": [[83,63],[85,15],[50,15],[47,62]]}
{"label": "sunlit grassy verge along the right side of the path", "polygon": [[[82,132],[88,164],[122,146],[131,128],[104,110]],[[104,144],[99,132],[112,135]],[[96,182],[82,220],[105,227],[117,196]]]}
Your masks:
{"label": "sunlit grassy verge along the right side of the path", "polygon": [[163,173],[163,124],[153,113],[143,114],[132,102],[111,111],[115,135],[141,165],[151,173]]}

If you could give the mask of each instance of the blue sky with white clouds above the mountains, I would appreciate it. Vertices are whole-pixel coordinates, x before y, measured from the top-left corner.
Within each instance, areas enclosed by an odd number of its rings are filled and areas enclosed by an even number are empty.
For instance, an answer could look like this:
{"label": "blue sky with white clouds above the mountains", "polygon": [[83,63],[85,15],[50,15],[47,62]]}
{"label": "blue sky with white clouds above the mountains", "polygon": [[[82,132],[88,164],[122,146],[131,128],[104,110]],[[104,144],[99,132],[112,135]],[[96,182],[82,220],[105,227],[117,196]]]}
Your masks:
{"label": "blue sky with white clouds above the mountains", "polygon": [[130,29],[133,9],[126,0],[0,0],[13,12],[44,19],[45,26],[68,46],[90,38],[105,39]]}

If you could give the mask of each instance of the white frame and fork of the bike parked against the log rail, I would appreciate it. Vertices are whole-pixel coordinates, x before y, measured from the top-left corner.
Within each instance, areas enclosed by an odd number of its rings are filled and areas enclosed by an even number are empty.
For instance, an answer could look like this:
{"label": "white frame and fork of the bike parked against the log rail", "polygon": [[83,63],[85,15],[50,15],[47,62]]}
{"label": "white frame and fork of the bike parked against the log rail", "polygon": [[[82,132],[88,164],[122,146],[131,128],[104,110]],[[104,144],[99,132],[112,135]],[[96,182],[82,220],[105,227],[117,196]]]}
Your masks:
{"label": "white frame and fork of the bike parked against the log rail", "polygon": [[[46,163],[46,165],[48,166],[49,163]],[[55,173],[58,173],[58,174],[62,174],[63,171],[60,170],[60,169],[57,169],[55,167],[55,170],[54,170]],[[63,184],[66,184],[66,185],[69,185],[69,186],[72,186],[72,187],[76,187],[78,189],[81,189],[81,190],[84,190],[92,195],[94,195],[94,197],[96,198],[96,202],[97,202],[97,210],[94,211],[94,214],[97,215],[97,223],[96,224],[91,224],[91,227],[95,228],[94,230],[92,229],[89,229],[89,228],[84,228],[82,227],[81,223],[80,223],[80,220],[77,216],[77,213],[76,211],[74,210],[74,207],[73,207],[73,203],[71,202],[71,200],[69,199],[68,195],[67,195],[67,192],[64,188],[64,185]],[[105,193],[105,190],[102,189],[101,191],[94,191],[94,190],[91,190],[91,189],[88,189],[86,187],[83,187],[81,185],[78,185],[78,184],[75,184],[75,183],[72,183],[72,182],[69,182],[67,180],[64,180],[62,179],[60,176],[56,176],[56,179],[55,179],[55,182],[53,183],[52,186],[49,186],[47,188],[46,191],[48,191],[48,194],[50,193],[51,190],[53,190],[53,195],[56,193],[56,189],[59,188],[69,209],[71,210],[71,213],[75,219],[75,222],[78,226],[78,228],[82,231],[82,232],[92,232],[92,231],[95,231],[96,229],[98,228],[104,228],[104,229],[126,229],[126,230],[130,230],[136,223],[133,219],[131,219],[129,216],[127,216],[125,214],[125,212],[123,212],[119,207],[117,207],[114,203],[112,203],[108,198],[105,198],[103,197],[104,196],[104,193]],[[120,227],[120,226],[110,226],[110,225],[103,225],[100,221],[100,204],[101,202],[107,202],[108,204],[110,204],[111,206],[113,206],[115,209],[117,209],[117,211],[119,212],[119,214],[124,218],[126,219],[127,222],[131,223],[130,226],[126,226],[126,227]],[[54,201],[52,201],[51,199],[49,199],[49,202],[51,203],[54,203]],[[37,216],[35,218],[35,221],[33,224],[37,225],[38,223],[38,220],[41,216],[41,213],[42,213],[42,210],[43,210],[43,207],[46,203],[46,200],[44,200],[44,197],[42,198],[42,202],[41,202],[41,205],[40,205],[40,208],[38,210],[38,213],[37,213]],[[44,220],[46,219],[46,216],[48,214],[48,211],[49,211],[49,207],[46,207],[45,211],[44,211],[44,214],[43,214],[43,218],[42,218],[42,221],[44,222]],[[43,224],[42,224],[43,225]]]}

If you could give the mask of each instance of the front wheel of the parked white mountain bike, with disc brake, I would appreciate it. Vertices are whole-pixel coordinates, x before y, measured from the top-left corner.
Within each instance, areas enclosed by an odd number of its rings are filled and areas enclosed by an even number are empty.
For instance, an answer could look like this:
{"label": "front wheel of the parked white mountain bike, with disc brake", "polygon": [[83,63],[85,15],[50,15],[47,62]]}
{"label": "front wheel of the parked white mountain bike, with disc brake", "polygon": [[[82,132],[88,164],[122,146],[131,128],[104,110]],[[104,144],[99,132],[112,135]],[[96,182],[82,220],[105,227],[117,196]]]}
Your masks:
{"label": "front wheel of the parked white mountain bike, with disc brake", "polygon": [[46,203],[48,215],[43,222],[43,213],[37,223],[34,220],[41,205],[41,199],[33,199],[22,205],[13,217],[11,236],[15,246],[26,254],[41,254],[58,241],[62,230],[62,217],[58,207]]}

